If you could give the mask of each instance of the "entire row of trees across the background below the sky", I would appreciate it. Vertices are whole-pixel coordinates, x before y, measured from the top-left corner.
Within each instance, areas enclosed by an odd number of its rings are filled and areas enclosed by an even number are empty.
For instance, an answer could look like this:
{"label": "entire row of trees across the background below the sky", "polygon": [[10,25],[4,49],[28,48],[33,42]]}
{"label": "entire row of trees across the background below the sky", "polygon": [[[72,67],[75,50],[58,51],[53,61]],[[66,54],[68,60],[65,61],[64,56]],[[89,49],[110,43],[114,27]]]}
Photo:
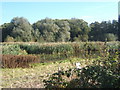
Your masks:
{"label": "entire row of trees across the background below the sky", "polygon": [[116,41],[118,21],[94,22],[88,25],[83,19],[45,18],[33,24],[24,17],[14,17],[0,26],[2,42],[74,42]]}

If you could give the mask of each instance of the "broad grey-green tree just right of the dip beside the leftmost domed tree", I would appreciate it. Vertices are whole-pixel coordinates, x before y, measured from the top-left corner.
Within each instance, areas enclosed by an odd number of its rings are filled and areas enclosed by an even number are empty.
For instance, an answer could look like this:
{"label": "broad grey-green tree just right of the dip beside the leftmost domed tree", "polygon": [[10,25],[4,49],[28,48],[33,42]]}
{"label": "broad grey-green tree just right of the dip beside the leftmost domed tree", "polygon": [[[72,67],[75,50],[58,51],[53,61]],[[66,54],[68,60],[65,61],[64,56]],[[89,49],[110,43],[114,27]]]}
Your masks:
{"label": "broad grey-green tree just right of the dip beside the leftmost domed tree", "polygon": [[33,28],[39,37],[37,40],[43,40],[46,42],[55,42],[55,35],[59,30],[59,27],[54,23],[54,20],[46,18],[33,24]]}

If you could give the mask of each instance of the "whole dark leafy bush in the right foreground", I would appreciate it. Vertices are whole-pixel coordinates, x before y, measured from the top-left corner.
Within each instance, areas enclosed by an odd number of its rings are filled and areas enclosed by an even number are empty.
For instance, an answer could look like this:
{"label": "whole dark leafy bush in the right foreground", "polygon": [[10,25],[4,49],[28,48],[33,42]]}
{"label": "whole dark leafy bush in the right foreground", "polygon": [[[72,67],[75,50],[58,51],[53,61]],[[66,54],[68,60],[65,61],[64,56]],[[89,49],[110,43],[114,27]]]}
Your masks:
{"label": "whole dark leafy bush in the right foreground", "polygon": [[46,88],[120,88],[119,52],[98,57],[81,69],[60,70],[44,80]]}

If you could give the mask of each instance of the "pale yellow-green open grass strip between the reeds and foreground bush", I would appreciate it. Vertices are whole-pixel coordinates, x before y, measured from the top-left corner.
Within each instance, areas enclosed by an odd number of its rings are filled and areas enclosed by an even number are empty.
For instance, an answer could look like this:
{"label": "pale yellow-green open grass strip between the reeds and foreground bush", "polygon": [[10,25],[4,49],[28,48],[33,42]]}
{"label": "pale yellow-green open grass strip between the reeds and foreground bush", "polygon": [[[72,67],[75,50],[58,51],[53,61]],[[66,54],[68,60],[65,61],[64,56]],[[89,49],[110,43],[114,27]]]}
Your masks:
{"label": "pale yellow-green open grass strip between the reeds and foreground bush", "polygon": [[[90,60],[92,61],[92,60]],[[76,62],[81,66],[91,64],[88,60],[72,58],[51,63],[40,63],[32,65],[32,68],[2,69],[2,88],[44,88],[43,80],[47,79],[52,73],[58,71],[58,68],[68,70],[74,68]]]}

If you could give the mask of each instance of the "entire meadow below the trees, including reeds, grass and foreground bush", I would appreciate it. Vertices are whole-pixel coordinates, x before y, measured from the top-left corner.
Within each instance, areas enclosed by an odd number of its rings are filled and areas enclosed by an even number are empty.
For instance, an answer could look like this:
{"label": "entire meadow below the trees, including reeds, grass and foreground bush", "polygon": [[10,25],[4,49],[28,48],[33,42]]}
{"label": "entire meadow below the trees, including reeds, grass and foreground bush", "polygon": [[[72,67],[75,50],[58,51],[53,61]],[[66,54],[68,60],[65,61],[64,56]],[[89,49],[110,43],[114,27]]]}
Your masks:
{"label": "entire meadow below the trees, including reeds, grass and foreground bush", "polygon": [[119,42],[0,44],[2,88],[119,87]]}

